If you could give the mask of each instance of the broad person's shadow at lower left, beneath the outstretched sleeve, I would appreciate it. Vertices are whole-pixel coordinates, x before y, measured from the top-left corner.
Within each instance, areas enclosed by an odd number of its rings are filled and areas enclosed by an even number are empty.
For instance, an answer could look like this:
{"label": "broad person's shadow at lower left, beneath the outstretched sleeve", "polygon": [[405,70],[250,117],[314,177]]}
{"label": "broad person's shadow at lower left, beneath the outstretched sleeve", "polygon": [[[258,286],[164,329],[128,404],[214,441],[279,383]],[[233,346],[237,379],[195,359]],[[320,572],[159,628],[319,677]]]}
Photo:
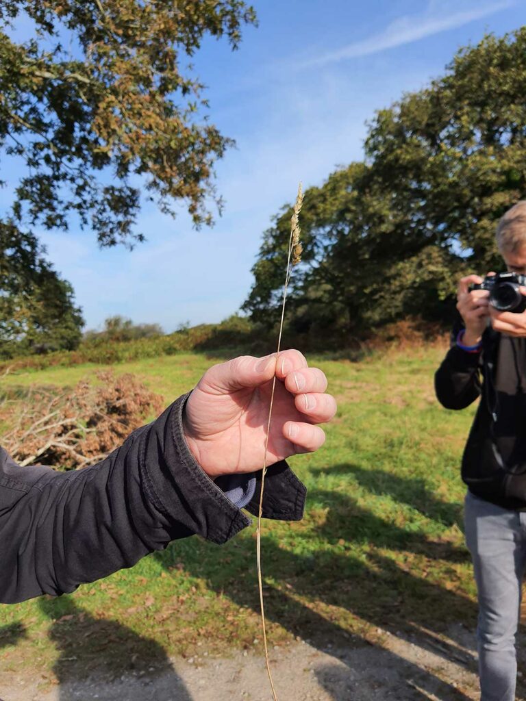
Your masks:
{"label": "broad person's shadow at lower left, beneath the outstretched sleeve", "polygon": [[180,676],[156,641],[113,620],[97,620],[71,596],[39,599],[53,622],[50,639],[60,652],[53,672],[60,701],[191,701]]}

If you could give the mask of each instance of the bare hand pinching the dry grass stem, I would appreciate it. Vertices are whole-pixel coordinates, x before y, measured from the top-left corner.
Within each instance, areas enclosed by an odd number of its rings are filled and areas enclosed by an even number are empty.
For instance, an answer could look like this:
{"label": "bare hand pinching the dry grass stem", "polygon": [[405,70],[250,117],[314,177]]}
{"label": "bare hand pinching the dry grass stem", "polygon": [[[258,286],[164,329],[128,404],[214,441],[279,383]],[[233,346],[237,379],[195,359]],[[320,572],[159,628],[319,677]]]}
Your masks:
{"label": "bare hand pinching the dry grass stem", "polygon": [[325,433],[317,423],[336,413],[327,379],[308,367],[299,351],[264,358],[243,355],[211,367],[187,401],[184,433],[191,453],[210,477],[254,472],[263,467],[272,379],[267,466],[297,453],[317,450]]}

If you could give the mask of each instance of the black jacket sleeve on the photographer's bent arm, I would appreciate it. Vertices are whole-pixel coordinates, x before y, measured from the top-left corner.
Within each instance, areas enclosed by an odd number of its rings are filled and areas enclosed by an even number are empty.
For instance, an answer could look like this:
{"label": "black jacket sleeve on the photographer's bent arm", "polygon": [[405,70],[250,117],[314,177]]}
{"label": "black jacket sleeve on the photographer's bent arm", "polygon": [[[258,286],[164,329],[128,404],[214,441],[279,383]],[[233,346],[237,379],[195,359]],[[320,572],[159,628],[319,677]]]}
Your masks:
{"label": "black jacket sleeve on the photographer's bent arm", "polygon": [[480,353],[468,353],[457,346],[455,326],[450,350],[435,373],[435,392],[446,409],[465,409],[480,396]]}

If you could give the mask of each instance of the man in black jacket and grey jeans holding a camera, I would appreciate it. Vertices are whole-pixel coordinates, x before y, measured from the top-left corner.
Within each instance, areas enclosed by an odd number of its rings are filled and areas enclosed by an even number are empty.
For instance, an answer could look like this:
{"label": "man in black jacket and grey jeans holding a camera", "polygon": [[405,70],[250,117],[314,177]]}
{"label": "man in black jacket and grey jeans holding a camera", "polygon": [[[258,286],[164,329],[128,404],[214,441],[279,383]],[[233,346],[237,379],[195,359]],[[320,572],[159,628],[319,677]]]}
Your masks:
{"label": "man in black jacket and grey jeans holding a camera", "polygon": [[461,278],[461,320],[435,376],[446,409],[481,397],[461,463],[478,592],[481,701],[515,699],[526,565],[526,200],[501,218],[497,246],[508,272]]}

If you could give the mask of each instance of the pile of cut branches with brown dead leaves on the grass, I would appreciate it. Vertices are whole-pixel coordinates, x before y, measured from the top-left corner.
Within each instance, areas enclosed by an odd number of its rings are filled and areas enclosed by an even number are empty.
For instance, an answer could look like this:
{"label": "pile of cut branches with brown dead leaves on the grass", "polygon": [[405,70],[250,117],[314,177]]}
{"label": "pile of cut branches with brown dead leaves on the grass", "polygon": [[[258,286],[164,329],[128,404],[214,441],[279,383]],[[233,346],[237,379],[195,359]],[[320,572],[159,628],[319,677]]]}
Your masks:
{"label": "pile of cut branches with brown dead leaves on the grass", "polygon": [[163,409],[163,397],[132,374],[104,371],[97,379],[67,392],[34,387],[23,400],[7,400],[3,419],[11,428],[0,444],[20,465],[74,470],[107,456]]}

